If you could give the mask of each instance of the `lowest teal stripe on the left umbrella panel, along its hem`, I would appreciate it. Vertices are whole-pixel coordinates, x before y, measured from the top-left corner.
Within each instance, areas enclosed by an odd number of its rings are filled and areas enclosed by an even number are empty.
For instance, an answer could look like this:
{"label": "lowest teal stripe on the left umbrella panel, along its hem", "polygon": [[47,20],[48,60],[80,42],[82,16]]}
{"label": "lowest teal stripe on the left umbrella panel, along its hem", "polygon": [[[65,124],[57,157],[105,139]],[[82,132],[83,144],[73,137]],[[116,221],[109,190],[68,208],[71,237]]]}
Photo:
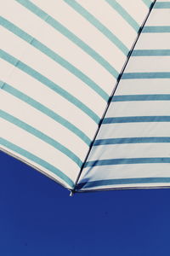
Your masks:
{"label": "lowest teal stripe on the left umbrella panel, along its hem", "polygon": [[65,173],[59,171],[58,168],[50,165],[47,161],[42,160],[41,158],[37,157],[36,155],[31,154],[30,152],[26,151],[25,149],[20,148],[20,147],[14,145],[13,143],[8,142],[7,140],[5,140],[3,138],[0,138],[0,143],[4,147],[9,148],[10,150],[13,150],[15,153],[20,154],[20,155],[26,157],[28,160],[31,160],[31,161],[37,163],[39,166],[46,168],[48,171],[53,172],[59,178],[64,180],[65,183],[67,183],[69,186],[71,186],[71,188],[74,187],[74,183],[70,177],[67,177],[65,175]]}

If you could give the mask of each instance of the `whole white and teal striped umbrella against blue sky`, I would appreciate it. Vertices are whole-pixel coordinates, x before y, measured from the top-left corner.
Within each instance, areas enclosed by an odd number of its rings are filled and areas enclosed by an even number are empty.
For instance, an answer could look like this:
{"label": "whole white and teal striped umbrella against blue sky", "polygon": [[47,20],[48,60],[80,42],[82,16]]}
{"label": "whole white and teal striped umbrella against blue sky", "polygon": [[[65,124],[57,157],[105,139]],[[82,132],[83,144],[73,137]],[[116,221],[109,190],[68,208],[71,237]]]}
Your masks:
{"label": "whole white and teal striped umbrella against blue sky", "polygon": [[6,0],[1,148],[71,192],[170,184],[170,2]]}

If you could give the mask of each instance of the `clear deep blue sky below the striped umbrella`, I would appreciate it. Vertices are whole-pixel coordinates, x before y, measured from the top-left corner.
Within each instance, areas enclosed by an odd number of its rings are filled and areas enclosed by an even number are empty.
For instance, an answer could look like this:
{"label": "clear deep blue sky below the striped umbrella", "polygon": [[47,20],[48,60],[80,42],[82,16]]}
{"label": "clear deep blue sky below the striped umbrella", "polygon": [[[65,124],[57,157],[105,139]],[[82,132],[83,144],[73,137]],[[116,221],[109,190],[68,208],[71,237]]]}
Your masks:
{"label": "clear deep blue sky below the striped umbrella", "polygon": [[167,256],[169,230],[170,189],[70,197],[48,177],[1,154],[1,256]]}

